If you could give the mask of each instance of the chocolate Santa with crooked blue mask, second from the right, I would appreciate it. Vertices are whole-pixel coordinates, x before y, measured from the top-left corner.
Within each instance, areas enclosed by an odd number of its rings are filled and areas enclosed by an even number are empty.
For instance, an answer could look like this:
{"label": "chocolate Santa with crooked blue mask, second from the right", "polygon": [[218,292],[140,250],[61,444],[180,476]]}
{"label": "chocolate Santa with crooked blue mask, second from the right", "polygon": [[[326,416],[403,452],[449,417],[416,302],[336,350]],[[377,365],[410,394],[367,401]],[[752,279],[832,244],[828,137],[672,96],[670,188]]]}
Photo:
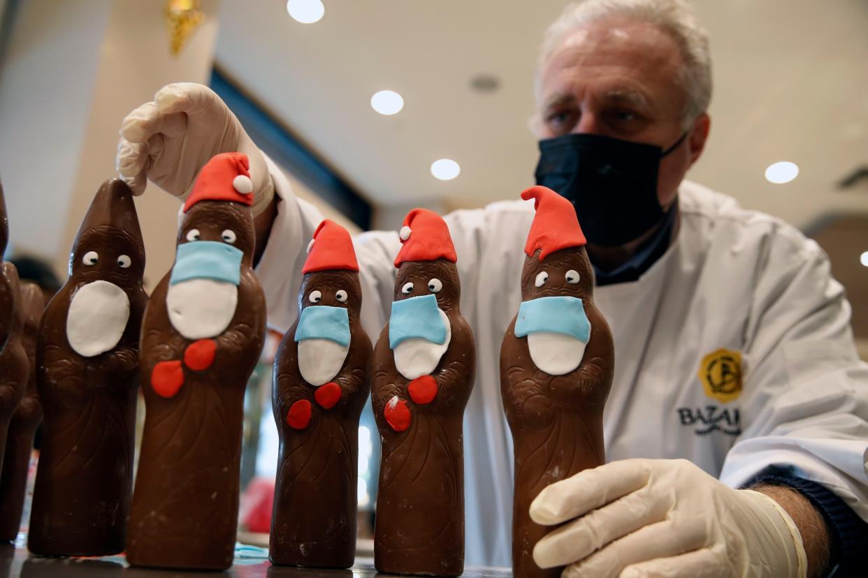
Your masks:
{"label": "chocolate Santa with crooked blue mask, second from the right", "polygon": [[414,209],[400,231],[391,317],[374,350],[382,440],[374,531],[380,572],[464,570],[462,418],[476,347],[458,308],[457,257],[443,218]]}

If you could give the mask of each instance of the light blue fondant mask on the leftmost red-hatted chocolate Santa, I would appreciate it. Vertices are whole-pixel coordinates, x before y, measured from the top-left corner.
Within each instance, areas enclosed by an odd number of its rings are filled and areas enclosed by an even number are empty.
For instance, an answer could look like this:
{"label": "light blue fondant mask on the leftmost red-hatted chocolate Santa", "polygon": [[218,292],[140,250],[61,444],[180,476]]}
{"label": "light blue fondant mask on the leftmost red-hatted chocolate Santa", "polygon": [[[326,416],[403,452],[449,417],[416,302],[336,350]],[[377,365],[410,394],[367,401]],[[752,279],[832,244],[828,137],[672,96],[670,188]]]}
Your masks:
{"label": "light blue fondant mask on the leftmost red-hatted chocolate Santa", "polygon": [[224,283],[241,283],[241,257],[237,247],[218,241],[191,241],[178,245],[169,285],[190,279],[214,279]]}

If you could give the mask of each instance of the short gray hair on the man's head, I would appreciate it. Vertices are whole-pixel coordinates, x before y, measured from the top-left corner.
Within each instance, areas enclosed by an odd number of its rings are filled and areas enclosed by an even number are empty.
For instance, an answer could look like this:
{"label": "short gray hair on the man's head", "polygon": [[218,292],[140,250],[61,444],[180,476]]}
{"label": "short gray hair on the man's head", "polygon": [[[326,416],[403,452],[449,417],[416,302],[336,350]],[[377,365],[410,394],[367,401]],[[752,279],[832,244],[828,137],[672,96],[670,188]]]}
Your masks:
{"label": "short gray hair on the man's head", "polygon": [[687,127],[707,111],[711,101],[711,56],[708,54],[706,31],[684,0],[582,0],[570,3],[542,36],[536,67],[537,98],[542,68],[569,33],[585,24],[618,16],[653,24],[678,44],[682,62],[678,80],[687,92],[682,120]]}

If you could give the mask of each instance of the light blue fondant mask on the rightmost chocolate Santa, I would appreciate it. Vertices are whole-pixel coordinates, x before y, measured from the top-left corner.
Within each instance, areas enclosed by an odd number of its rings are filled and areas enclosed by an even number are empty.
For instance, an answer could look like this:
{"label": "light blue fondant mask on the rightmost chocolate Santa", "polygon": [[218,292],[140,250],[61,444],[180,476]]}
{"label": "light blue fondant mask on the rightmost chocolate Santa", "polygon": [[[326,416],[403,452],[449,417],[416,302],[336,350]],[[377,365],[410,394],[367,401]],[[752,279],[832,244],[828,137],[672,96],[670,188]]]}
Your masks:
{"label": "light blue fondant mask on the rightmost chocolate Santa", "polygon": [[570,335],[587,343],[591,336],[591,323],[585,315],[582,300],[556,295],[522,302],[516,317],[516,337],[542,332]]}

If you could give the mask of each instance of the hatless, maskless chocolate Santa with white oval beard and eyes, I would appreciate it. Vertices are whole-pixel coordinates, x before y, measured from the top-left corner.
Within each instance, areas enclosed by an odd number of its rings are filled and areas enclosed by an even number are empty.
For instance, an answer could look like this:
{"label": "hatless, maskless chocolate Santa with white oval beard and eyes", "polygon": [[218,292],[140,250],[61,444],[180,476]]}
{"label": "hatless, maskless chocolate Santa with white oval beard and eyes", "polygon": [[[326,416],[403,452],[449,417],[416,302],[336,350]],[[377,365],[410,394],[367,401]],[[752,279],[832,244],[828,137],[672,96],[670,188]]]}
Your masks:
{"label": "hatless, maskless chocolate Santa with white oval beard and eyes", "polygon": [[36,346],[43,406],[28,548],[39,555],[122,552],[133,481],[145,249],[133,193],[96,192],[45,308]]}

